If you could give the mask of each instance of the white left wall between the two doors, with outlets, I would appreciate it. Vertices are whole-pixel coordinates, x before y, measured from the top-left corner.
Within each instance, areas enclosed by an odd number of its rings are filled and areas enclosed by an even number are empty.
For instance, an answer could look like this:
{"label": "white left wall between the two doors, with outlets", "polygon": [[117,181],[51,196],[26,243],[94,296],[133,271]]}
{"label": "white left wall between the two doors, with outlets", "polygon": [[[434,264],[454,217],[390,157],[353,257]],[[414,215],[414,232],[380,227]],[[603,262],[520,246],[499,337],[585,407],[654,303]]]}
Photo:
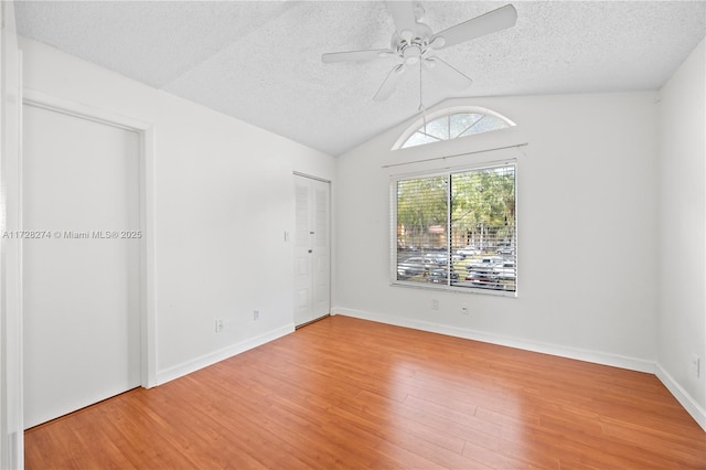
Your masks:
{"label": "white left wall between the two doors, with outlets", "polygon": [[40,43],[21,47],[26,88],[154,126],[157,382],[292,331],[292,171],[333,180],[335,160]]}

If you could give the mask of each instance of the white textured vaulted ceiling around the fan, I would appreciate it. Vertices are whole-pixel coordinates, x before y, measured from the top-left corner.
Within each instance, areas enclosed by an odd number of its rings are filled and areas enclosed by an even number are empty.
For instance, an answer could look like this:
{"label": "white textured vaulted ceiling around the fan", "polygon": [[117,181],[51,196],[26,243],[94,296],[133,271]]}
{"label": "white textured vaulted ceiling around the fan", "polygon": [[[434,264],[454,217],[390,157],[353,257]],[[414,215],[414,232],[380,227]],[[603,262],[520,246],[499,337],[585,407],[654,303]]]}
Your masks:
{"label": "white textured vaulted ceiling around the fan", "polygon": [[[421,1],[434,32],[509,2]],[[421,76],[425,106],[450,97],[653,90],[706,35],[706,1],[515,1],[517,23],[438,52],[473,78]],[[419,73],[372,99],[394,58],[374,1],[17,1],[20,34],[333,156],[417,113]]]}

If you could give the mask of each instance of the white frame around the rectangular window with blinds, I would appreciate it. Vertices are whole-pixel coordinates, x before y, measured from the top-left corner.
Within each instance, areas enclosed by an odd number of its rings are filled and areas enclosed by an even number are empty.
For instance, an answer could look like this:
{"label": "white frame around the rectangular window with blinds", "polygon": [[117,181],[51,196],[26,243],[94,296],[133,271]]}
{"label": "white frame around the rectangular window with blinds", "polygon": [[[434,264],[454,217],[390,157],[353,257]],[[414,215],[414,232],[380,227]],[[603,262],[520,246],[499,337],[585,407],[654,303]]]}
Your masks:
{"label": "white frame around the rectangular window with blinds", "polygon": [[[514,290],[501,290],[501,289],[489,289],[483,287],[473,287],[473,286],[453,286],[451,285],[451,278],[447,275],[446,284],[431,284],[431,282],[419,282],[419,281],[408,281],[404,279],[398,279],[397,276],[397,256],[398,256],[398,183],[400,181],[408,181],[414,179],[424,179],[424,178],[439,178],[446,177],[448,178],[449,191],[447,193],[447,217],[446,217],[446,252],[443,252],[448,259],[450,260],[453,255],[452,244],[452,234],[451,234],[451,199],[452,194],[450,191],[451,188],[451,179],[453,174],[460,174],[472,171],[482,171],[494,168],[502,167],[513,167],[514,170],[514,263],[515,263],[515,289]],[[405,287],[405,288],[415,288],[415,289],[428,289],[436,291],[452,291],[452,292],[463,292],[463,293],[480,293],[480,295],[489,295],[489,296],[499,296],[499,297],[507,297],[507,298],[517,298],[518,296],[518,253],[520,253],[520,243],[518,243],[518,191],[517,191],[517,172],[518,164],[517,159],[504,159],[498,161],[483,161],[475,164],[454,167],[454,168],[443,168],[443,169],[431,169],[428,171],[419,171],[414,173],[403,173],[391,175],[389,179],[389,196],[391,196],[391,213],[389,213],[389,280],[392,287]]]}

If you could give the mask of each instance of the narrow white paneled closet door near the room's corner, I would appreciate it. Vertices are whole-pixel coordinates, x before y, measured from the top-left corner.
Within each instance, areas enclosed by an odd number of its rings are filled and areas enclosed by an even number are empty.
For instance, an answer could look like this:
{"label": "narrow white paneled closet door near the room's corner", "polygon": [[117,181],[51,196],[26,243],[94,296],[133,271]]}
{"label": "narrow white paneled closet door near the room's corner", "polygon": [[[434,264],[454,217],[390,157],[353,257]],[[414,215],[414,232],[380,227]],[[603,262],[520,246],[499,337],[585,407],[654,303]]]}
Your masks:
{"label": "narrow white paneled closet door near the room's corner", "polygon": [[330,313],[330,184],[295,175],[295,324]]}

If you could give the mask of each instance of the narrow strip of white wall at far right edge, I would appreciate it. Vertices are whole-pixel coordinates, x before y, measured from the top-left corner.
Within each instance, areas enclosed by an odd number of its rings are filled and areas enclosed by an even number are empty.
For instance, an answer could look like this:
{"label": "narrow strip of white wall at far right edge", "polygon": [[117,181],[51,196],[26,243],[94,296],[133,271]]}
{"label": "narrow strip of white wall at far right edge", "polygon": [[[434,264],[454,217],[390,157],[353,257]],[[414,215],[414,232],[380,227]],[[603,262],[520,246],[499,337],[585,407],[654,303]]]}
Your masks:
{"label": "narrow strip of white wall at far right edge", "polygon": [[702,41],[660,93],[657,374],[706,429],[705,56]]}

